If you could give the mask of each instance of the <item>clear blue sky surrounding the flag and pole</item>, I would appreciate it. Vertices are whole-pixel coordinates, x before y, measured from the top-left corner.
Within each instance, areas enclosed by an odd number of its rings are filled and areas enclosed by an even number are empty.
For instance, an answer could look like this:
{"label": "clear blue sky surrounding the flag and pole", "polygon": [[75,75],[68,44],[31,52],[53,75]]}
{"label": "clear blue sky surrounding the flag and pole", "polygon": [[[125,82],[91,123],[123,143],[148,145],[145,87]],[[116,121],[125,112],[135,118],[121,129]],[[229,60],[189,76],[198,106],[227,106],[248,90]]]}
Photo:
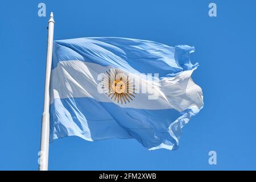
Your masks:
{"label": "clear blue sky surrounding the flag and pole", "polygon": [[[38,16],[38,3],[47,16]],[[208,16],[210,2],[217,17]],[[148,151],[134,139],[49,146],[49,169],[256,169],[255,7],[247,1],[3,1],[0,6],[0,169],[36,170],[40,147],[47,21],[54,39],[119,36],[195,46],[193,80],[204,108],[183,128],[176,151]],[[208,152],[217,152],[217,165]]]}

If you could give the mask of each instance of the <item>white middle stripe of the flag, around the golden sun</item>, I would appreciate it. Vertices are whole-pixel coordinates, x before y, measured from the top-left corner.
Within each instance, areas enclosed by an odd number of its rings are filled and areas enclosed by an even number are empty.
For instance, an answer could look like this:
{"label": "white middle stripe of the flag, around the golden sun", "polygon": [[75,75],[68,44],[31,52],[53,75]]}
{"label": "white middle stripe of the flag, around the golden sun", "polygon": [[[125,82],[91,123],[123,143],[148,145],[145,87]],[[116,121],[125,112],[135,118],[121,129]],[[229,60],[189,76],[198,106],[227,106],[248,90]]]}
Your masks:
{"label": "white middle stripe of the flag, around the golden sun", "polygon": [[[60,61],[51,73],[51,104],[55,98],[80,98],[90,97],[99,102],[116,101],[108,97],[108,94],[99,93],[97,80],[100,73],[109,71],[111,67],[102,67],[99,64],[84,61]],[[153,85],[146,90],[146,93],[134,94],[133,101],[121,104],[121,107],[135,109],[176,109],[183,111],[191,106],[199,109],[203,106],[203,94],[201,88],[192,79],[192,71],[181,72],[176,77],[166,77],[156,82],[150,82],[143,77],[132,73],[135,83],[139,82],[141,88]],[[130,74],[129,74],[130,77]],[[138,84],[135,84],[139,90]],[[157,96],[154,98],[154,96]]]}

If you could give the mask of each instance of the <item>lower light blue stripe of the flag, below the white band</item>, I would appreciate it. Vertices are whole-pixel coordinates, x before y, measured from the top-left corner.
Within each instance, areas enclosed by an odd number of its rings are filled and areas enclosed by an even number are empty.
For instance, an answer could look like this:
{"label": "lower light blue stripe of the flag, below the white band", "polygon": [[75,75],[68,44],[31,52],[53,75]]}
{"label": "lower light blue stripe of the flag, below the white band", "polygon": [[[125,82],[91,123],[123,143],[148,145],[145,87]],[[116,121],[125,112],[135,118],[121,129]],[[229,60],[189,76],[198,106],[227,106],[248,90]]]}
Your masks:
{"label": "lower light blue stripe of the flag, below the white band", "polygon": [[[97,102],[93,98],[55,99],[50,106],[50,140],[52,142],[69,135],[87,140],[135,138],[146,148],[164,143],[175,149],[178,144],[168,128],[187,113],[179,113],[175,109],[122,108],[111,102]],[[181,135],[180,126],[178,123],[176,131],[173,131],[177,138]],[[75,128],[79,128],[80,132],[77,133]]]}

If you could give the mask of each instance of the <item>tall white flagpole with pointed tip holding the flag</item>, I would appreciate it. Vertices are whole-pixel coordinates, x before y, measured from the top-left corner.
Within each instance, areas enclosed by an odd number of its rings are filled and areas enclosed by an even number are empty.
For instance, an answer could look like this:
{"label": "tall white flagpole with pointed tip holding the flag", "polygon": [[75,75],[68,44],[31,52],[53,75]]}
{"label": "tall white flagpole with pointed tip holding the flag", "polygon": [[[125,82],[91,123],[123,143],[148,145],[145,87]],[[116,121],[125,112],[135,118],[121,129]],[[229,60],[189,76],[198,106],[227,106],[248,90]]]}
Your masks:
{"label": "tall white flagpole with pointed tip holding the flag", "polygon": [[48,154],[49,154],[49,83],[51,77],[52,65],[52,46],[53,46],[53,13],[48,20],[48,39],[47,39],[47,56],[46,56],[46,82],[44,85],[44,111],[42,115],[42,131],[41,131],[41,146],[39,170],[48,170]]}

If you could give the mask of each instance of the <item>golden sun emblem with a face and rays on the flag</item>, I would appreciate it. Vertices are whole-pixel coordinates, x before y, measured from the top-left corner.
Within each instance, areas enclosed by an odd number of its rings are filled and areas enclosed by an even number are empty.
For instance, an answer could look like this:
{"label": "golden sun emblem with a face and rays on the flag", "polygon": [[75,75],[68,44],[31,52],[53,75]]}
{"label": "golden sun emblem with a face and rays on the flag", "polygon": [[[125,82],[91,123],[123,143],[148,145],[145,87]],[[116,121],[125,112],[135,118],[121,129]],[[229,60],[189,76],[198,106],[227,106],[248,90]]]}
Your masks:
{"label": "golden sun emblem with a face and rays on the flag", "polygon": [[135,84],[123,71],[109,69],[101,80],[101,88],[112,100],[126,104],[135,98]]}

